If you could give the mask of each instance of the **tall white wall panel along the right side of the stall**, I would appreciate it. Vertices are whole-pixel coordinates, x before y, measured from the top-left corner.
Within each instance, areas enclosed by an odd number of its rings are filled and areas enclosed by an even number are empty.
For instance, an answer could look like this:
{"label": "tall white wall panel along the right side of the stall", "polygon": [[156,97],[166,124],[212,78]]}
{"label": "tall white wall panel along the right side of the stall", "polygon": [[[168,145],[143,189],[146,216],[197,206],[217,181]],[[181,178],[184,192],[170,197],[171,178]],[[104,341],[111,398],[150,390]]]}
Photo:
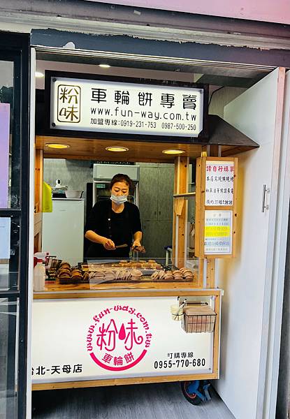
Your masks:
{"label": "tall white wall panel along the right side of the stall", "polygon": [[218,270],[224,297],[216,387],[236,419],[256,419],[260,360],[266,351],[261,348],[263,304],[266,281],[271,280],[267,249],[273,237],[268,237],[270,211],[261,212],[261,200],[263,184],[272,182],[276,102],[274,71],[225,108],[226,121],[260,145],[238,154],[238,256],[219,261]]}

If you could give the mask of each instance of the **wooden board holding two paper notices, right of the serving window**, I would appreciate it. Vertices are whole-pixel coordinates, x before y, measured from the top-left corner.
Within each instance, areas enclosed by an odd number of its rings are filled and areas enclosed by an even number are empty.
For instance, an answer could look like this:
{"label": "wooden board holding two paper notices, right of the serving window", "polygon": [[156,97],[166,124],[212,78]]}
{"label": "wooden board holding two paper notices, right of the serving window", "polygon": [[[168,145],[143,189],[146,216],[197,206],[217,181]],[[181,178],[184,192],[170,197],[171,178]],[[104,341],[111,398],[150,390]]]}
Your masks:
{"label": "wooden board holding two paper notices, right of the serving window", "polygon": [[238,159],[203,156],[196,161],[195,255],[235,256]]}

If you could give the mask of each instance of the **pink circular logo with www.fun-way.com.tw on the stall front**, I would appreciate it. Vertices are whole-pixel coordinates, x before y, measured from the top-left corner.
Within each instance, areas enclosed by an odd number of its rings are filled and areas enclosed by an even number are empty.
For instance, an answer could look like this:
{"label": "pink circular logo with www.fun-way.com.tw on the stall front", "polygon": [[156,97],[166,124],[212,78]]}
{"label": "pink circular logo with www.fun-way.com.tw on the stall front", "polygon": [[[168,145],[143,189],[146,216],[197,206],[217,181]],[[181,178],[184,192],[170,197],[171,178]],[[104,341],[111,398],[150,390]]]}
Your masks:
{"label": "pink circular logo with www.fun-way.com.tw on the stall front", "polygon": [[142,313],[129,305],[115,305],[92,318],[87,352],[96,365],[124,371],[137,365],[150,348],[152,333]]}

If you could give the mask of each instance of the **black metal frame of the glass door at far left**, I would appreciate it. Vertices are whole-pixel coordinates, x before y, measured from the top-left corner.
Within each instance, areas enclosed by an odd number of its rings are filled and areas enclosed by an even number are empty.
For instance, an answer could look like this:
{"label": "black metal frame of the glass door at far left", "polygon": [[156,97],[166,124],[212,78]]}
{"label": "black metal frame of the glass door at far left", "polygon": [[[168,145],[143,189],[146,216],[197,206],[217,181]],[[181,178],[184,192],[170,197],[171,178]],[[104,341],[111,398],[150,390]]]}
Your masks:
{"label": "black metal frame of the glass door at far left", "polygon": [[[29,35],[0,32],[0,59],[14,62],[13,74],[13,188],[20,193],[16,208],[0,210],[0,216],[20,217],[18,290],[0,291],[0,298],[19,301],[17,360],[18,418],[26,417],[27,318],[29,261]],[[19,179],[19,180],[18,180]],[[10,317],[10,316],[9,316]],[[10,336],[15,344],[16,336]]]}

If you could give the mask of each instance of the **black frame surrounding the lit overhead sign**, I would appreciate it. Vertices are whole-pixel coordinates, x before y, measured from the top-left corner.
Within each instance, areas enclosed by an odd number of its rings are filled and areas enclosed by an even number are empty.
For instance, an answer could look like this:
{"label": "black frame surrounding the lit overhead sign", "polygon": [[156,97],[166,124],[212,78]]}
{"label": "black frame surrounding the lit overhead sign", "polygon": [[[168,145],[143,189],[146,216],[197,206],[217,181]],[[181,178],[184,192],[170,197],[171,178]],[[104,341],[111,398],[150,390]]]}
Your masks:
{"label": "black frame surrounding the lit overhead sign", "polygon": [[198,137],[177,137],[170,135],[148,135],[148,134],[129,134],[129,133],[108,133],[98,132],[98,138],[126,140],[126,141],[140,141],[140,142],[173,142],[183,144],[207,144],[208,143],[208,84],[196,84],[191,82],[173,82],[143,79],[143,78],[123,78],[113,75],[96,75],[83,73],[66,73],[62,71],[45,71],[45,121],[44,129],[38,132],[38,135],[50,135],[57,137],[78,137],[78,138],[96,138],[96,131],[78,131],[78,130],[64,130],[55,129],[50,126],[50,80],[53,77],[64,77],[82,80],[106,80],[108,82],[122,82],[122,83],[136,83],[144,85],[158,85],[164,87],[192,87],[203,89],[203,130]]}

